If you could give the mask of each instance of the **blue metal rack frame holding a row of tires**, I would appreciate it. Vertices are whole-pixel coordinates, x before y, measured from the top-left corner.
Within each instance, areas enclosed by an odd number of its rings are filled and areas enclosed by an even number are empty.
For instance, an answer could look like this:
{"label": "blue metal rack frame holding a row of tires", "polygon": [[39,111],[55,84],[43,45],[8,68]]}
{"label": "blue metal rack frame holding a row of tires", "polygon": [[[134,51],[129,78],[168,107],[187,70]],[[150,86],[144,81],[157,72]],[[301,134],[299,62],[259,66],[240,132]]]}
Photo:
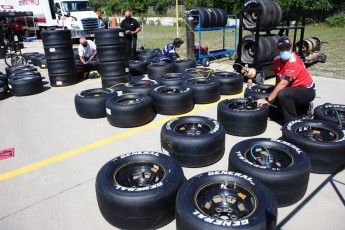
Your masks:
{"label": "blue metal rack frame holding a row of tires", "polygon": [[[196,59],[196,63],[197,64],[202,64],[203,66],[208,66],[208,64],[206,64],[210,59],[215,59],[217,57],[221,57],[224,56],[226,54],[229,54],[230,58],[231,58],[231,54],[236,54],[236,40],[237,40],[237,15],[235,14],[228,14],[227,18],[229,20],[229,17],[233,17],[233,19],[235,20],[235,24],[234,25],[230,25],[230,26],[220,26],[220,27],[202,27],[200,26],[200,22],[202,21],[202,16],[200,14],[197,15],[192,15],[192,16],[197,16],[199,17],[198,20],[198,25],[194,28],[194,31],[198,32],[198,45],[199,45],[199,49],[198,49],[198,59]],[[234,30],[234,46],[233,49],[230,48],[225,48],[225,34],[226,34],[226,30],[230,30],[233,29]],[[216,30],[222,30],[222,36],[223,36],[223,46],[222,49],[220,50],[211,50],[208,51],[208,54],[203,55],[202,54],[202,33],[206,32],[206,31],[216,31]]]}

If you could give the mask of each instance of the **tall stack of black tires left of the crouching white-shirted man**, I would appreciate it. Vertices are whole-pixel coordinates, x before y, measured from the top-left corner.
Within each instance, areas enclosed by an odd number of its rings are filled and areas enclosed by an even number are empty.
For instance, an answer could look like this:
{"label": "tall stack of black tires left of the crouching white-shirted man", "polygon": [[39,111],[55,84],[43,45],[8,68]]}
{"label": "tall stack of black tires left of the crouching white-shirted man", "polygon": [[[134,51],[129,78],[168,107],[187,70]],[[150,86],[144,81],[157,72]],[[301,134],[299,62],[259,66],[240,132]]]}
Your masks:
{"label": "tall stack of black tires left of the crouching white-shirted man", "polygon": [[51,86],[78,82],[74,64],[71,31],[46,30],[41,33]]}

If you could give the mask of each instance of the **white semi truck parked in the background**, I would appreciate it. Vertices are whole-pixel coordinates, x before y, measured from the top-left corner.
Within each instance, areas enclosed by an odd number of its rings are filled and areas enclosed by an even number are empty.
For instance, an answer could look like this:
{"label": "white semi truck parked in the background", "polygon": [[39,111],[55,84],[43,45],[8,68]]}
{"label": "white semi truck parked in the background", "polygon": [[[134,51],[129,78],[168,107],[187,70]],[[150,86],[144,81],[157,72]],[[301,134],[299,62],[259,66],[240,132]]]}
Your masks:
{"label": "white semi truck parked in the background", "polygon": [[0,0],[0,18],[4,16],[14,29],[37,36],[42,30],[62,28],[71,30],[72,37],[92,37],[102,27],[88,0]]}

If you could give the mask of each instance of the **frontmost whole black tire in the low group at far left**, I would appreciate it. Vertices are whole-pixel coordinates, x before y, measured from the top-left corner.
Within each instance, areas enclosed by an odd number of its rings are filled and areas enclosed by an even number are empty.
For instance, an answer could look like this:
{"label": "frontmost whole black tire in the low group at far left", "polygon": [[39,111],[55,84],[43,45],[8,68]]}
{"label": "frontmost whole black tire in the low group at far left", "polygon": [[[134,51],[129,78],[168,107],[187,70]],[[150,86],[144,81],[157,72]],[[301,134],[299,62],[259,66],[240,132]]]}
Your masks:
{"label": "frontmost whole black tire in the low group at far left", "polygon": [[29,96],[43,91],[41,76],[18,76],[8,80],[8,86],[14,96]]}

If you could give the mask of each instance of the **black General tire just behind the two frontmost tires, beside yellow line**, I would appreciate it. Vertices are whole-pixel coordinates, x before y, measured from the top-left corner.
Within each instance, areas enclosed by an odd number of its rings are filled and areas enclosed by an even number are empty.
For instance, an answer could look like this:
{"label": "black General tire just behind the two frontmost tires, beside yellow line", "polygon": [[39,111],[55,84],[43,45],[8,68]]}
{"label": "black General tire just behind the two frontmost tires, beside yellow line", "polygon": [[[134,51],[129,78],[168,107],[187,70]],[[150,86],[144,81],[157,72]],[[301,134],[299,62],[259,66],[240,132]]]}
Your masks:
{"label": "black General tire just behind the two frontmost tires, beside yellow line", "polygon": [[174,118],[161,129],[161,147],[184,167],[211,165],[224,155],[224,128],[208,117]]}

